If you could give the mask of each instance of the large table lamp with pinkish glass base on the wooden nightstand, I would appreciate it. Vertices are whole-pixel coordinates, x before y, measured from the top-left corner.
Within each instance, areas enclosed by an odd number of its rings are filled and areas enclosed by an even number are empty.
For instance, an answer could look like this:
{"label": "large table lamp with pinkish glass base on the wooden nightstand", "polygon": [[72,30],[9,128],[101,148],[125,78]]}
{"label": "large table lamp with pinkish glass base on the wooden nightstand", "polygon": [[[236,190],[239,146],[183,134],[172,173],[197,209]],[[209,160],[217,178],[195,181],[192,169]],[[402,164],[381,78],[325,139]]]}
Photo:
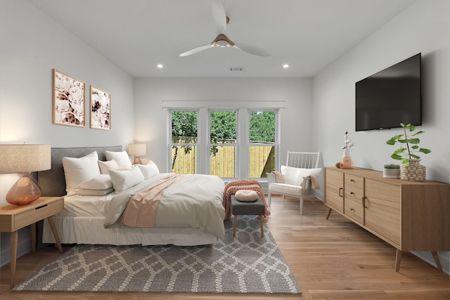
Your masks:
{"label": "large table lamp with pinkish glass base on the wooden nightstand", "polygon": [[50,145],[0,145],[0,174],[20,177],[6,194],[9,204],[27,205],[41,197],[41,189],[30,178],[34,171],[51,169]]}

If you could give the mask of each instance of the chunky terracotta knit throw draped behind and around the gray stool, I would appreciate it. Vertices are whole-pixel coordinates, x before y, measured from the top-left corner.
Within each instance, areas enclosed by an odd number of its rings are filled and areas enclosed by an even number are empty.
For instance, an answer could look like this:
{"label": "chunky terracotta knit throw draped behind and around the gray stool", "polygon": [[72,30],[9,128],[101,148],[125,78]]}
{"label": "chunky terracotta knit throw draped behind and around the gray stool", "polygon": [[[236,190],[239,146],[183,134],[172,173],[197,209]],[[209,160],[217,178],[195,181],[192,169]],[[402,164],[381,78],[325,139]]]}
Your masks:
{"label": "chunky terracotta knit throw draped behind and around the gray stool", "polygon": [[262,216],[262,221],[267,222],[270,211],[267,206],[266,198],[264,197],[264,191],[262,190],[261,184],[255,180],[250,179],[240,179],[237,181],[231,181],[226,183],[224,188],[224,207],[225,207],[225,218],[227,220],[231,219],[231,195],[236,194],[238,190],[255,190],[259,198],[261,198],[265,207],[265,214]]}

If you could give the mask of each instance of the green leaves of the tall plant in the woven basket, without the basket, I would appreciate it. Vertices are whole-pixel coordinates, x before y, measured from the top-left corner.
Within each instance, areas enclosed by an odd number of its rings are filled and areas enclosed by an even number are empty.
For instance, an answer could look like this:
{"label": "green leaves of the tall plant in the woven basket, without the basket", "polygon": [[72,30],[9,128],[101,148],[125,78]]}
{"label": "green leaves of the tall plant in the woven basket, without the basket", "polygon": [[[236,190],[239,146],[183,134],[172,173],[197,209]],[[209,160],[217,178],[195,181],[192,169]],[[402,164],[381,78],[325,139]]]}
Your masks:
{"label": "green leaves of the tall plant in the woven basket, without the basket", "polygon": [[392,153],[391,157],[393,159],[399,159],[402,164],[406,164],[408,163],[408,159],[420,159],[416,154],[418,152],[422,152],[423,154],[431,152],[430,149],[420,148],[420,139],[416,137],[419,134],[425,133],[425,131],[420,130],[412,133],[416,130],[416,126],[411,124],[405,125],[403,123],[400,123],[400,126],[403,127],[404,133],[392,136],[390,140],[386,141],[387,145],[395,145],[397,142],[401,144],[401,147]]}

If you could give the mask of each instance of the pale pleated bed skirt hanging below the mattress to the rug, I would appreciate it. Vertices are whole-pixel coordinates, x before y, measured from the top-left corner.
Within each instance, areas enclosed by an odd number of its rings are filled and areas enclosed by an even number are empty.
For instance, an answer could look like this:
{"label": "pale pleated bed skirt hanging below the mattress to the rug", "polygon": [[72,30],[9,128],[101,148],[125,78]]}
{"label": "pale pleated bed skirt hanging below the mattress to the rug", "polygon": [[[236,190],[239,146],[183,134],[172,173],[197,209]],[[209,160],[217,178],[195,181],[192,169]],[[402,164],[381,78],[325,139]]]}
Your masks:
{"label": "pale pleated bed skirt hanging below the mattress to the rug", "polygon": [[[62,244],[175,244],[195,246],[214,244],[219,241],[214,235],[198,228],[104,228],[103,217],[59,217],[53,216]],[[42,242],[54,243],[55,238],[49,221],[44,220]]]}

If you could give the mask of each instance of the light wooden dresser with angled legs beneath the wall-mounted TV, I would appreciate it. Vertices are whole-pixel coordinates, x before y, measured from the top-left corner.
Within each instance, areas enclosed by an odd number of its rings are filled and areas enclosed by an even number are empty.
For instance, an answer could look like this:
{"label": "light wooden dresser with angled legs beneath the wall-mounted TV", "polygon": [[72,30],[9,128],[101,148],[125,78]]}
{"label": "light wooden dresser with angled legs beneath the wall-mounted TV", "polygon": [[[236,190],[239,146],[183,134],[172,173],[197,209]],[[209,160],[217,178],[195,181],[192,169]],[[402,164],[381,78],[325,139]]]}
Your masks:
{"label": "light wooden dresser with angled legs beneath the wall-mounted TV", "polygon": [[[368,169],[325,168],[325,204],[402,251],[450,251],[450,185],[383,178]],[[328,216],[330,216],[330,211]],[[328,219],[327,216],[327,219]]]}

